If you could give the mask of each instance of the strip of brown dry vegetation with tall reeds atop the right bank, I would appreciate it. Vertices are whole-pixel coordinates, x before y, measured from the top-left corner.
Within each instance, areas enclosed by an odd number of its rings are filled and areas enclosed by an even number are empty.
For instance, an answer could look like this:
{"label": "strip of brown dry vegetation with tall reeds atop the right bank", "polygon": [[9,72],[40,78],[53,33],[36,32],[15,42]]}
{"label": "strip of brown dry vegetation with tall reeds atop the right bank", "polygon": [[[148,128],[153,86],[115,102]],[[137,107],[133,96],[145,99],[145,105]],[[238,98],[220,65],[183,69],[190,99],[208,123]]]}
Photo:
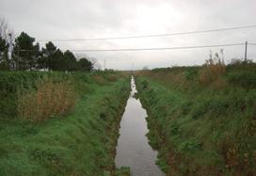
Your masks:
{"label": "strip of brown dry vegetation with tall reeds atop the right bank", "polygon": [[152,79],[160,81],[165,86],[188,90],[191,87],[211,86],[213,89],[225,88],[226,80],[221,76],[226,72],[224,61],[219,58],[210,58],[200,67],[173,67],[166,72],[161,70],[140,71],[136,75],[150,76]]}

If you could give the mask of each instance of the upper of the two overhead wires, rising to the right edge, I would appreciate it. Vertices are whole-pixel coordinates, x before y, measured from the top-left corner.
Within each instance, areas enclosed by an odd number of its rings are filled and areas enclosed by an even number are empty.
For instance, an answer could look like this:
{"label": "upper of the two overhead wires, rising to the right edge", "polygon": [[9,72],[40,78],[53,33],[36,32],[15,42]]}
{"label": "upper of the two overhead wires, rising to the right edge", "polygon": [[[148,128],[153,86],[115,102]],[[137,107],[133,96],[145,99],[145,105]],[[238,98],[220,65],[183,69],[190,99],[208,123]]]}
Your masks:
{"label": "upper of the two overhead wires, rising to the right edge", "polygon": [[[189,35],[189,34],[200,34],[200,33],[219,32],[219,31],[228,31],[228,30],[255,28],[255,27],[256,27],[256,24],[236,26],[236,27],[216,28],[216,29],[209,29],[209,30],[165,33],[165,34],[152,34],[152,35],[140,35],[140,36],[124,36],[124,37],[109,37],[109,38],[53,39],[52,41],[127,40],[127,39],[138,39],[138,38],[156,38],[156,37],[166,37],[166,36],[179,36],[179,35]],[[38,40],[38,41],[50,41],[50,40],[48,39],[48,40]]]}

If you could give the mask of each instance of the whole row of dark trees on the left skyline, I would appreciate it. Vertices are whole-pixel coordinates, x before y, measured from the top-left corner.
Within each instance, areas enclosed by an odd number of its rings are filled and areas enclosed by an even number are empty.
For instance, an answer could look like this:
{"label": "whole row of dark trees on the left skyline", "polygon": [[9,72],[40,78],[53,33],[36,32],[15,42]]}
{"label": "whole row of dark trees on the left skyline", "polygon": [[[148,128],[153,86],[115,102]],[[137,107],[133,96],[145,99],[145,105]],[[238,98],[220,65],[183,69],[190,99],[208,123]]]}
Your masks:
{"label": "whole row of dark trees on the left skyline", "polygon": [[69,50],[61,51],[49,41],[40,48],[35,38],[22,32],[12,39],[8,24],[0,19],[0,71],[83,71],[89,72],[93,63],[86,57],[78,59]]}

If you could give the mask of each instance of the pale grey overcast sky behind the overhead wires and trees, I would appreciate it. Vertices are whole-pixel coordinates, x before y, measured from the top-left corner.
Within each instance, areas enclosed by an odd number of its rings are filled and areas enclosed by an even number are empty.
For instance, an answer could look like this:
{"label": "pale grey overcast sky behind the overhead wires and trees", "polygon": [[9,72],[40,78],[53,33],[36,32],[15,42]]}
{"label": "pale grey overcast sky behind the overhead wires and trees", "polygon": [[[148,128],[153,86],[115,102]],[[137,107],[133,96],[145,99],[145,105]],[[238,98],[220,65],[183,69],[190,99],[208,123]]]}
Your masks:
{"label": "pale grey overcast sky behind the overhead wires and trees", "polygon": [[[108,38],[256,24],[256,0],[0,0],[0,16],[16,34],[36,40]],[[256,43],[256,28],[129,40],[54,42],[60,49],[119,49]],[[40,42],[43,46],[44,43]],[[212,48],[218,52],[220,48]],[[245,46],[224,47],[225,60],[244,57]],[[107,69],[202,64],[209,48],[86,53]],[[256,46],[248,46],[256,58]],[[255,59],[254,59],[255,60]]]}

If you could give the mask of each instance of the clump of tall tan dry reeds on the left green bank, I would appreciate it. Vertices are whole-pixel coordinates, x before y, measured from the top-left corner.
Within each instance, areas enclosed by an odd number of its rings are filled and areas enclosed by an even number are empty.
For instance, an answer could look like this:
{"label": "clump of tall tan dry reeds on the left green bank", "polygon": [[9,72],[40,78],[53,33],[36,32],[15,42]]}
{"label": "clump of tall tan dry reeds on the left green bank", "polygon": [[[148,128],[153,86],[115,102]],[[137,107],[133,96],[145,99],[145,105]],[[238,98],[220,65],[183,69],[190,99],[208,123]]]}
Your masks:
{"label": "clump of tall tan dry reeds on the left green bank", "polygon": [[47,120],[70,111],[75,99],[69,82],[46,78],[36,90],[29,88],[19,93],[17,111],[24,120]]}

